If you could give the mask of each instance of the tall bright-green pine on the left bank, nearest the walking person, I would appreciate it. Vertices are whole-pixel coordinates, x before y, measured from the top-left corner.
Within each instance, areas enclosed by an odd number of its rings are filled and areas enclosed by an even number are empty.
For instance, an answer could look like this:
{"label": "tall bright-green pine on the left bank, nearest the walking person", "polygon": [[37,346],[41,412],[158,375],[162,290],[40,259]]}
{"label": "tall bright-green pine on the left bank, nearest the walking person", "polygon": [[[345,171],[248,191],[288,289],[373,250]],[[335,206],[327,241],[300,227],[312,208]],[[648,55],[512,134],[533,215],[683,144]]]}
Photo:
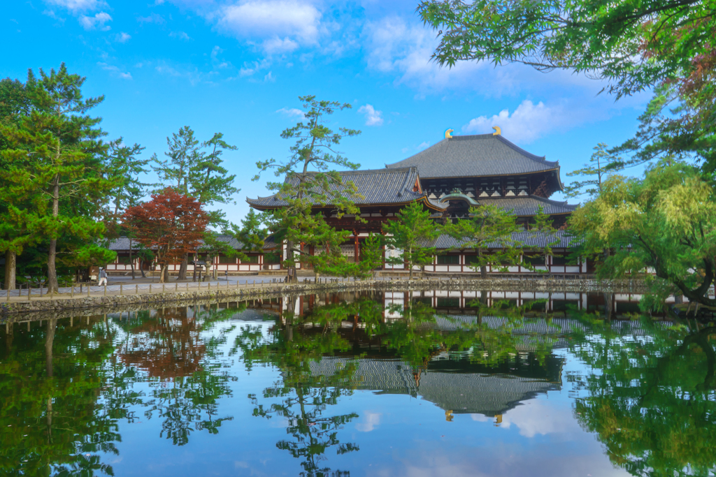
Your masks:
{"label": "tall bright-green pine on the left bank, nearest the walking person", "polygon": [[[0,170],[14,201],[9,208],[22,215],[24,229],[37,240],[49,241],[47,275],[50,290],[57,292],[58,239],[74,237],[89,242],[102,237],[98,222],[107,195],[117,180],[105,164],[107,144],[99,127],[101,118],[87,112],[104,97],[84,99],[84,78],[69,74],[61,65],[55,72],[28,72],[26,89],[32,104],[19,123],[3,128],[11,149]],[[25,202],[31,205],[21,210]]]}

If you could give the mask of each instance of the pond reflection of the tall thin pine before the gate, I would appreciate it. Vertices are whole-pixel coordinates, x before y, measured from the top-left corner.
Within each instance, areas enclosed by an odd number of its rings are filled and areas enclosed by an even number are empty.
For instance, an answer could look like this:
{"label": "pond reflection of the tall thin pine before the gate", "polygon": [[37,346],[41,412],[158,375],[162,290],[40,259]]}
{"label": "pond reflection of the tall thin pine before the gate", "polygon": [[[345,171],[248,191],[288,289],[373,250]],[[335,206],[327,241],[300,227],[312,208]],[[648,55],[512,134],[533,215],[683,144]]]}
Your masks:
{"label": "pond reflection of the tall thin pine before the gate", "polygon": [[[295,306],[289,306],[289,310],[294,309]],[[321,310],[310,320],[320,330],[319,333],[294,333],[296,327],[309,323],[309,320],[284,313],[286,325],[271,330],[266,338],[257,328],[244,328],[236,339],[236,348],[241,348],[248,367],[263,364],[281,369],[283,378],[263,390],[264,399],[278,399],[279,402],[263,405],[256,395],[250,395],[256,406],[253,415],[263,418],[280,416],[288,421],[286,433],[291,438],[279,441],[276,447],[301,459],[304,469],[301,476],[348,476],[348,472],[332,472],[324,461],[327,460],[326,451],[332,447],[336,448],[338,455],[359,450],[353,443],[339,441],[339,431],[358,415],[326,414],[329,405],[336,405],[339,398],[352,394],[350,379],[355,366],[349,363],[331,376],[311,374],[312,361],[351,348],[347,340],[336,333],[340,321],[347,315],[339,305],[329,305]]]}

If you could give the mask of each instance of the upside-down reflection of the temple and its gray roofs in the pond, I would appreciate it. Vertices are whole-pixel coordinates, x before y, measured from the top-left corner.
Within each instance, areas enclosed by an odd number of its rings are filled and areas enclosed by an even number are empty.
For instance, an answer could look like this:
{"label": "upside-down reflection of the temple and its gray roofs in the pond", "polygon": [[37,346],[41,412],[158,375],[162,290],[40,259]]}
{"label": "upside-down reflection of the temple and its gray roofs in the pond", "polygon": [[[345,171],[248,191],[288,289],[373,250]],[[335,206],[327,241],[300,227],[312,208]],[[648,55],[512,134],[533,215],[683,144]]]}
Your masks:
{"label": "upside-down reflection of the temple and its gray roofs in the pond", "polygon": [[[639,296],[571,293],[571,292],[486,292],[483,303],[493,305],[506,300],[510,305],[527,305],[536,300],[539,311],[551,312],[549,320],[532,318],[510,323],[508,318],[482,315],[470,306],[480,300],[479,291],[448,292],[427,290],[409,292],[378,292],[362,295],[355,292],[312,295],[297,298],[294,313],[303,315],[304,333],[322,333],[324,325],[311,325],[310,316],[314,309],[325,305],[352,303],[359,298],[369,297],[384,305],[382,320],[391,323],[402,318],[401,309],[409,302],[420,301],[435,308],[435,320],[421,323],[419,328],[430,328],[448,335],[460,330],[477,330],[478,325],[489,330],[510,335],[513,352],[505,353],[499,363],[490,365],[480,361],[488,351],[479,346],[455,352],[436,350],[425,365],[419,368],[397,358],[384,347],[379,335],[364,333],[364,323],[359,315],[346,316],[332,328],[342,338],[353,344],[353,349],[336,355],[324,356],[320,361],[309,363],[311,375],[332,376],[354,363],[355,372],[349,380],[358,390],[372,390],[378,394],[404,394],[420,397],[434,403],[448,420],[453,413],[478,413],[496,417],[515,408],[526,400],[546,395],[548,391],[561,390],[561,368],[564,358],[553,350],[567,348],[571,333],[589,333],[580,320],[566,318],[563,311],[572,305],[576,310],[604,309],[605,303],[612,303],[620,313],[634,313],[638,310]],[[283,303],[282,310],[291,305]],[[564,317],[564,318],[562,318]],[[642,334],[637,321],[614,320],[614,328],[635,335]],[[541,360],[538,354],[541,351]]]}

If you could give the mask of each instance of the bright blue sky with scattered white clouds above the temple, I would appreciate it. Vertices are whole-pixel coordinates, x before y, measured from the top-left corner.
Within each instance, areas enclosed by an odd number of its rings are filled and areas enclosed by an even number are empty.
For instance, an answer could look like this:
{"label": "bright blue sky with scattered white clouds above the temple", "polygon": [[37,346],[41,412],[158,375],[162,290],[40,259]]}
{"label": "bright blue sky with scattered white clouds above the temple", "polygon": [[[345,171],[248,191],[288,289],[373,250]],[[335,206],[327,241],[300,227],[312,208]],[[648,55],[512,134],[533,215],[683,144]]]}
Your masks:
{"label": "bright blue sky with scattered white clouds above the temple", "polygon": [[[563,182],[599,142],[632,137],[644,95],[614,102],[604,85],[569,72],[430,62],[437,40],[417,1],[30,0],[4,6],[1,77],[66,62],[87,77],[85,93],[109,138],[165,151],[182,126],[199,139],[223,132],[241,192],[220,206],[235,222],[256,161],[283,159],[281,130],[299,119],[299,95],[349,102],[333,127],[361,129],[340,148],[363,168],[384,167],[454,134],[492,132],[561,164]],[[269,177],[266,177],[267,179]],[[560,199],[559,195],[553,198]]]}

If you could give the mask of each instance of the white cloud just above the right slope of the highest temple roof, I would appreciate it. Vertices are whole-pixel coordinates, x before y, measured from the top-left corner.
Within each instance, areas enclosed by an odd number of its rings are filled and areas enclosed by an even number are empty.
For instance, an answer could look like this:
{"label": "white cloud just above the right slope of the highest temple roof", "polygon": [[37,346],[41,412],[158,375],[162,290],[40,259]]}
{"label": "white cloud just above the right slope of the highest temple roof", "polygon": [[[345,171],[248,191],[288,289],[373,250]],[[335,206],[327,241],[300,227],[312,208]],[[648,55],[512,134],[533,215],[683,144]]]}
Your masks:
{"label": "white cloud just above the right slope of the highest temple roof", "polygon": [[525,99],[512,114],[509,109],[503,109],[492,117],[471,119],[463,126],[463,132],[487,134],[493,132],[493,126],[499,126],[505,138],[513,142],[529,143],[555,129],[573,127],[586,119],[586,114],[574,113],[573,109],[568,112],[561,105],[547,107],[543,102],[534,104]]}

